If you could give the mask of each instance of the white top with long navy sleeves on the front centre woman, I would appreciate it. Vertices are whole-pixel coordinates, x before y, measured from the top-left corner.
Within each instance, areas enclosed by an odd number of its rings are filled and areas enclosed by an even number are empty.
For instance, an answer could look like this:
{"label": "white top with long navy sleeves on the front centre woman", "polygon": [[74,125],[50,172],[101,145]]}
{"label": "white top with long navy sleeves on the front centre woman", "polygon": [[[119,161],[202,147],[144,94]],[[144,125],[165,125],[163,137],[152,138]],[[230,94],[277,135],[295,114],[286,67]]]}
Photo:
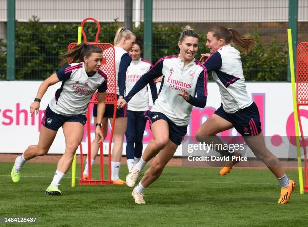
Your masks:
{"label": "white top with long navy sleeves on the front centre woman", "polygon": [[[136,83],[130,93],[124,97],[129,101],[133,95],[141,90],[147,83],[163,75],[161,91],[155,101],[151,112],[161,112],[178,126],[186,126],[190,121],[192,106],[204,107],[207,97],[207,71],[206,68],[193,59],[184,67],[179,55],[163,57],[144,74]],[[179,96],[187,89],[190,100],[186,101]],[[197,94],[197,97],[195,95]]]}

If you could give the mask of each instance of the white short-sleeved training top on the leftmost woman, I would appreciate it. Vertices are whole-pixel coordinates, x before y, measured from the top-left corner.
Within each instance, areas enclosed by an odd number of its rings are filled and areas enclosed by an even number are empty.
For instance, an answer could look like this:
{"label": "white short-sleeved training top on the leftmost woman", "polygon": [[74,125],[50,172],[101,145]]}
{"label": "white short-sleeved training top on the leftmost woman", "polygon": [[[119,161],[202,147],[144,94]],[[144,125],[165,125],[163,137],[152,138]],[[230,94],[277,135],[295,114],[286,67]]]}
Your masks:
{"label": "white short-sleeved training top on the leftmost woman", "polygon": [[49,107],[57,114],[86,114],[95,91],[107,90],[106,74],[99,69],[94,75],[88,76],[84,62],[66,65],[56,73],[62,85],[49,102]]}

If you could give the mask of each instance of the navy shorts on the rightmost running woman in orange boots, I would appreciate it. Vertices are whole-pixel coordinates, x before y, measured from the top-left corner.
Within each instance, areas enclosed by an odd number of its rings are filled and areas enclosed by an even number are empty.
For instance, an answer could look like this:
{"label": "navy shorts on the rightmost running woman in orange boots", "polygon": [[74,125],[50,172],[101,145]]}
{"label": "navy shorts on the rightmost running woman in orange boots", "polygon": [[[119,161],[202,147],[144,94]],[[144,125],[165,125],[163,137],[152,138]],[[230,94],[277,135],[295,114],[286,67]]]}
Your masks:
{"label": "navy shorts on the rightmost running woman in orange boots", "polygon": [[259,110],[254,102],[232,114],[225,112],[221,104],[215,114],[231,122],[242,136],[257,136],[262,131]]}

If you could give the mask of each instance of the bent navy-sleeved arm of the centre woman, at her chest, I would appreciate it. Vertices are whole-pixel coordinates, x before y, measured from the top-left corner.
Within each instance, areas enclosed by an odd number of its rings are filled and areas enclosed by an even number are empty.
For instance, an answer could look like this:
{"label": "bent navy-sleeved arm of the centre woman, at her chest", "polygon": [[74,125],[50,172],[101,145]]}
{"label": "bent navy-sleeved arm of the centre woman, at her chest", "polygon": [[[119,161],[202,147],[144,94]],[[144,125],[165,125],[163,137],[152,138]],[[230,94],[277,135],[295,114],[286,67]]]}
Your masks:
{"label": "bent navy-sleeved arm of the centre woman, at her chest", "polygon": [[197,97],[193,97],[185,90],[183,93],[179,93],[178,95],[182,96],[186,102],[191,105],[204,108],[207,99],[207,77],[204,76],[204,71],[202,71],[198,77],[196,93]]}

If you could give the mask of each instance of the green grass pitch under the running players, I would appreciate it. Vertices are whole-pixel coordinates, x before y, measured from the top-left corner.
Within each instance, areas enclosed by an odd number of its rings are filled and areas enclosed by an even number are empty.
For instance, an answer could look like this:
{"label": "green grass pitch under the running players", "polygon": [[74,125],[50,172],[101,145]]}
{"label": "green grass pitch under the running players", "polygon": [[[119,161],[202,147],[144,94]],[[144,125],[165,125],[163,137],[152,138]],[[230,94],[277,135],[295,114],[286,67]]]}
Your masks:
{"label": "green grass pitch under the running players", "polygon": [[[280,187],[268,170],[234,169],[222,177],[216,168],[166,167],[145,191],[147,204],[136,205],[130,195],[132,189],[127,186],[71,188],[71,172],[61,182],[62,196],[47,196],[44,192],[56,164],[27,163],[17,184],[9,176],[12,165],[0,163],[0,217],[38,217],[40,226],[307,226],[308,223],[308,195],[300,195],[296,188],[288,204],[277,204]],[[127,167],[123,166],[122,179],[126,173]],[[287,174],[298,183],[296,171]]]}

